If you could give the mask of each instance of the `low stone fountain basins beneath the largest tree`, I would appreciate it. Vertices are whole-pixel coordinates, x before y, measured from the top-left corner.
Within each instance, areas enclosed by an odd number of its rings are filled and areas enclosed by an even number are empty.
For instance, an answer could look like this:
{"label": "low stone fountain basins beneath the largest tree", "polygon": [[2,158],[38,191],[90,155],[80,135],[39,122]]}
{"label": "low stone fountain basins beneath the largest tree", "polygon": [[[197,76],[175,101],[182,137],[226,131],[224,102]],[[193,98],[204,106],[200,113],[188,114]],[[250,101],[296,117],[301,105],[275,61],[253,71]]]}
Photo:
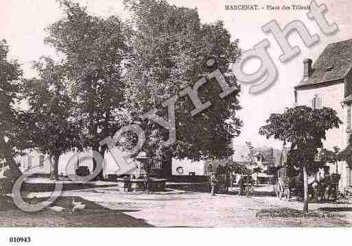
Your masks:
{"label": "low stone fountain basins beneath the largest tree", "polygon": [[[143,179],[125,179],[118,177],[117,186],[120,188],[126,187],[126,182],[130,182],[130,189],[131,190],[144,190],[144,180]],[[163,191],[166,188],[166,179],[159,179],[156,177],[150,177],[148,181],[148,190],[150,191]]]}

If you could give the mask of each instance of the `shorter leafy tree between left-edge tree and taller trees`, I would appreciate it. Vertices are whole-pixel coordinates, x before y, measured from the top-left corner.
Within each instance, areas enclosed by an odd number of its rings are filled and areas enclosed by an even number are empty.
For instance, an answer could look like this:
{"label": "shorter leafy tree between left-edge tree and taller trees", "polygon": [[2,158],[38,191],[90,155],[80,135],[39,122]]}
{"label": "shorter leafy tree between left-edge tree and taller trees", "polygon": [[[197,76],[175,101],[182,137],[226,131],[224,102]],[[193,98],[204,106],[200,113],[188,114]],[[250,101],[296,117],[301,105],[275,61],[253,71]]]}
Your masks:
{"label": "shorter leafy tree between left-edge tree and taller trees", "polygon": [[23,99],[28,110],[27,132],[33,147],[54,159],[51,178],[58,180],[58,162],[62,153],[82,149],[80,126],[75,119],[71,86],[66,68],[51,58],[43,57],[34,63],[38,78],[24,80]]}

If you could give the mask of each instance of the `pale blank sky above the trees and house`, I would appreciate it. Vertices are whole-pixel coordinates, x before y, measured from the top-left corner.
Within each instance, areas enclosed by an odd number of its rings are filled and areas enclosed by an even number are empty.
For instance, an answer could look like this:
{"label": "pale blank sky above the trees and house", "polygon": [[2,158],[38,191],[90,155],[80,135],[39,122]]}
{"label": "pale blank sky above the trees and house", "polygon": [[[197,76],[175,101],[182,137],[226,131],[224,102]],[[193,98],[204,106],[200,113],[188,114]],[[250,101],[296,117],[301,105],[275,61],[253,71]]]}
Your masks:
{"label": "pale blank sky above the trees and house", "polygon": [[[122,19],[128,18],[121,0],[84,0],[78,1],[85,5],[91,14],[99,16],[110,16],[117,14]],[[316,23],[310,21],[305,10],[259,10],[241,11],[225,10],[225,5],[260,4],[266,5],[309,5],[306,0],[261,0],[261,1],[227,1],[227,0],[168,0],[177,6],[197,8],[202,23],[224,21],[226,29],[231,33],[233,39],[239,39],[242,50],[252,49],[264,38],[270,41],[268,52],[277,66],[279,76],[276,82],[268,90],[257,95],[248,93],[248,85],[242,84],[241,105],[239,117],[244,121],[242,133],[234,139],[236,145],[250,141],[255,146],[272,146],[281,149],[282,143],[276,140],[267,140],[259,136],[261,125],[271,113],[283,112],[285,107],[294,103],[294,86],[300,82],[303,75],[303,59],[311,58],[313,62],[322,53],[323,49],[331,42],[338,42],[352,38],[351,0],[317,0],[318,4],[325,3],[327,12],[325,17],[329,23],[335,22],[339,30],[336,34],[326,36],[322,34]],[[33,60],[40,56],[56,56],[53,48],[45,45],[43,39],[47,35],[45,28],[54,21],[60,19],[62,12],[58,8],[56,0],[3,0],[0,3],[0,38],[8,40],[10,45],[10,58],[19,60],[23,64],[25,77],[33,77],[31,69]],[[310,34],[318,34],[320,42],[313,47],[305,47],[298,34],[290,34],[288,40],[292,45],[298,45],[301,53],[290,60],[282,63],[279,61],[281,49],[271,34],[265,34],[261,27],[266,23],[276,20],[281,28],[294,20],[303,21]],[[244,70],[248,73],[255,72],[260,66],[259,60],[250,60],[246,63]]]}

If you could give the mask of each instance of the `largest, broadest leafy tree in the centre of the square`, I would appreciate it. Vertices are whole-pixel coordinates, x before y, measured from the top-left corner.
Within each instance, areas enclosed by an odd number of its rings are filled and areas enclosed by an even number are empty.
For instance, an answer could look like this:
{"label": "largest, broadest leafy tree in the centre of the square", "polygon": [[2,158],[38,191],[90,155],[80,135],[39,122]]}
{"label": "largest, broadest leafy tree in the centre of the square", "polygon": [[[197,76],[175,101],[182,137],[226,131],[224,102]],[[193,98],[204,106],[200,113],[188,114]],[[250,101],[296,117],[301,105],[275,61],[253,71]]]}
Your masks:
{"label": "largest, broadest leafy tree in the centre of the square", "polygon": [[[178,8],[166,1],[126,0],[132,15],[134,33],[130,58],[126,61],[126,101],[130,123],[156,108],[167,120],[162,103],[178,95],[183,88],[220,69],[228,84],[236,86],[229,65],[239,56],[238,40],[233,40],[221,21],[202,24],[195,9]],[[206,66],[213,58],[216,67]],[[165,143],[168,131],[150,120],[141,122],[147,142],[143,146],[150,162],[163,163],[170,157],[225,158],[232,154],[231,139],[239,134],[242,121],[237,93],[224,99],[218,83],[207,82],[198,90],[202,102],[211,106],[191,116],[194,109],[188,97],[178,98],[176,112],[176,143]],[[238,92],[238,91],[237,91]],[[167,163],[166,163],[167,164]]]}

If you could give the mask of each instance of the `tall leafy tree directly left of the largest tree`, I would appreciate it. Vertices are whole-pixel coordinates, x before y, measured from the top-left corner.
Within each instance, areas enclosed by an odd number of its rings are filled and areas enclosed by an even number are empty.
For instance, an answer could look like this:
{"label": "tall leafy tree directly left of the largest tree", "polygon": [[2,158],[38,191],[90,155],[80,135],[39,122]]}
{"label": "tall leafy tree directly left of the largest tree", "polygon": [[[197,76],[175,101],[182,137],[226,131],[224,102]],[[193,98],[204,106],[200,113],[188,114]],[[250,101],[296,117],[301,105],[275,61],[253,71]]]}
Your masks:
{"label": "tall leafy tree directly left of the largest tree", "polygon": [[[99,141],[114,134],[124,119],[121,77],[130,31],[118,16],[93,16],[78,3],[67,0],[60,1],[60,5],[64,16],[49,26],[45,40],[64,55],[82,145],[99,151]],[[100,151],[104,156],[105,149]],[[93,160],[94,169],[96,165]]]}

